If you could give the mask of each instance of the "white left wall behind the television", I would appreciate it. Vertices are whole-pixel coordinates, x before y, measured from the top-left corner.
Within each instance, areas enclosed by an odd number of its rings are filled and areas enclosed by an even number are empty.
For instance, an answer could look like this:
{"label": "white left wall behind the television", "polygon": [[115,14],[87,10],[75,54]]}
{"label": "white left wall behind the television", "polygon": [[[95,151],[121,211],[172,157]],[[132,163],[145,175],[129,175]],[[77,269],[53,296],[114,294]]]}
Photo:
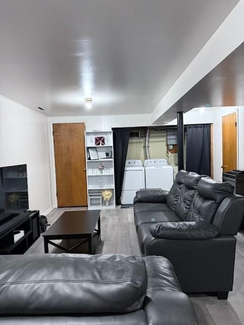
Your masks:
{"label": "white left wall behind the television", "polygon": [[0,167],[27,164],[29,209],[53,208],[48,118],[0,96]]}

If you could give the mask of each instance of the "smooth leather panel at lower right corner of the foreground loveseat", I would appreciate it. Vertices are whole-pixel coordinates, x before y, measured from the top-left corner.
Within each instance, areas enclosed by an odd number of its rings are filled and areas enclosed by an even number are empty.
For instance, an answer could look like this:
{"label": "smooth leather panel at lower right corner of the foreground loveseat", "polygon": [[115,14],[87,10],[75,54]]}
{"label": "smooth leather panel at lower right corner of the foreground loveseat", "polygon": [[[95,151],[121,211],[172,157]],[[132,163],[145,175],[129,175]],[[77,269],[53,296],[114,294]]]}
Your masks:
{"label": "smooth leather panel at lower right corner of the foreground loveseat", "polygon": [[198,325],[189,297],[180,291],[154,291],[146,297],[144,311],[150,325]]}

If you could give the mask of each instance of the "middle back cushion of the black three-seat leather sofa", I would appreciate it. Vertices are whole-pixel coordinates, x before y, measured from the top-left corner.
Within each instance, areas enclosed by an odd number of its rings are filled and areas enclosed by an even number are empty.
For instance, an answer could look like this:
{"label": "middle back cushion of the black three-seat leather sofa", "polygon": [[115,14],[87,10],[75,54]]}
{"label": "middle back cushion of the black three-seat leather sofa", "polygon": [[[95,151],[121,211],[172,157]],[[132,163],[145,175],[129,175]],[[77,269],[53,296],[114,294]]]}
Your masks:
{"label": "middle back cushion of the black three-seat leather sofa", "polygon": [[184,184],[179,193],[179,200],[175,205],[175,212],[182,220],[188,220],[188,212],[192,206],[196,187],[201,177],[197,173],[190,172],[184,178]]}

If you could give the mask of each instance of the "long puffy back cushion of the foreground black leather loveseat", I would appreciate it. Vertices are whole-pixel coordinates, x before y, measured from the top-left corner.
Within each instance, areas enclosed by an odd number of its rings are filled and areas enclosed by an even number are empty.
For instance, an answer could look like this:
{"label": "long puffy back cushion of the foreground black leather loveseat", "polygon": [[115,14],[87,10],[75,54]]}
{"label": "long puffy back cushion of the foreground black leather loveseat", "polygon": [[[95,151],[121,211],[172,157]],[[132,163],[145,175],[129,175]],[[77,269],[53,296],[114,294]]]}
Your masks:
{"label": "long puffy back cushion of the foreground black leather loveseat", "polygon": [[147,273],[141,257],[86,254],[11,257],[0,257],[2,316],[129,313],[142,309]]}

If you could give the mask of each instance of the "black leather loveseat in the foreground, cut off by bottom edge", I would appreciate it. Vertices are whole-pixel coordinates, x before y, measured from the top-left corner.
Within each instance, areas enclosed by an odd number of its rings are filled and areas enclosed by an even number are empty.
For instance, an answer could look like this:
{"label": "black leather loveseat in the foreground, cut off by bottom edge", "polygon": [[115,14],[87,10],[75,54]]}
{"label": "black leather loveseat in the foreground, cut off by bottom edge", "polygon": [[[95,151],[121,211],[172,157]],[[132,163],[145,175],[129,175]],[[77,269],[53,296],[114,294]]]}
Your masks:
{"label": "black leather loveseat in the foreground, cut off by bottom edge", "polygon": [[2,255],[2,325],[197,325],[161,256]]}

